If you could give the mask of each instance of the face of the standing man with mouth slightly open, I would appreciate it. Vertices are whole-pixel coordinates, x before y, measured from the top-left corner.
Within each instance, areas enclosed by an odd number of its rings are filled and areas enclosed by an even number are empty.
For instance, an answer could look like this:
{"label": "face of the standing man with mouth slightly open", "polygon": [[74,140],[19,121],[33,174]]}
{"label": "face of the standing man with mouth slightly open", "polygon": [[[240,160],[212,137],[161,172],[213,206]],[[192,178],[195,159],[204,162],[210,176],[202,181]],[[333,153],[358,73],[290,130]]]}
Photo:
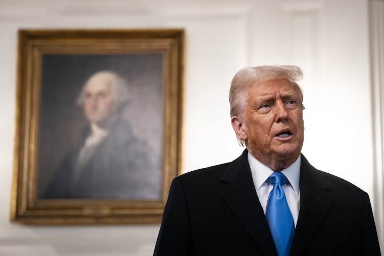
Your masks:
{"label": "face of the standing man with mouth slightly open", "polygon": [[248,88],[244,111],[247,148],[263,158],[298,158],[304,142],[302,98],[287,80],[271,80]]}

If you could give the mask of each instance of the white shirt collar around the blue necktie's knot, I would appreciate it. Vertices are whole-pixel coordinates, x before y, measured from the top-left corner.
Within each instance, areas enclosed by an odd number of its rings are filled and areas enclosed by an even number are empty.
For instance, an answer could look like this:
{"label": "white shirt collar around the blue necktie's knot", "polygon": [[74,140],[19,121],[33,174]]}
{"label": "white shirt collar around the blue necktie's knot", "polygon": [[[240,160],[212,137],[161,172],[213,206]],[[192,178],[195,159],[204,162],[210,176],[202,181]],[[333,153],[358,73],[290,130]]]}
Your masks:
{"label": "white shirt collar around the blue necktie's knot", "polygon": [[[273,170],[268,166],[261,163],[248,152],[248,163],[251,168],[253,183],[255,184],[256,191],[260,189],[263,183],[268,179]],[[296,194],[299,194],[299,180],[300,180],[300,164],[301,155],[290,167],[281,171],[291,183],[292,188]]]}

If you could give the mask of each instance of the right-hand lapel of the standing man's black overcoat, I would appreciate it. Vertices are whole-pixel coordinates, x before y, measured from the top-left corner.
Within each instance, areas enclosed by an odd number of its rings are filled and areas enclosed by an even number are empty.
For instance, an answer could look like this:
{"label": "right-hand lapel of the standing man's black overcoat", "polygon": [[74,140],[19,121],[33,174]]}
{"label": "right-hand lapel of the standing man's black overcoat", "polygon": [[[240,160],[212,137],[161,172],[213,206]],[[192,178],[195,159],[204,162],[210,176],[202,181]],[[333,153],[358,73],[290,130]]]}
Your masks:
{"label": "right-hand lapel of the standing man's black overcoat", "polygon": [[299,255],[307,246],[332,206],[327,195],[332,188],[321,173],[301,155],[300,212],[292,242],[291,255]]}

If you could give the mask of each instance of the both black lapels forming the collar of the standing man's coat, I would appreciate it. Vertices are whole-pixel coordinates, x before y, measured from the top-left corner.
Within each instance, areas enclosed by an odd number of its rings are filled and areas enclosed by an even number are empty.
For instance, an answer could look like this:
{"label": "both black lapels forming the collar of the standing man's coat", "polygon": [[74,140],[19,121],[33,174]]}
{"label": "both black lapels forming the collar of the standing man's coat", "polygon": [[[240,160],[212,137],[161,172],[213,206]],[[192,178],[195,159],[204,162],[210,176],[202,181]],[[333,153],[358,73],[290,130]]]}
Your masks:
{"label": "both black lapels forming the collar of the standing man's coat", "polygon": [[[223,173],[221,181],[228,185],[221,191],[221,196],[259,248],[266,255],[277,255],[253,184],[247,154],[248,150],[245,149]],[[291,255],[300,254],[321,225],[332,206],[332,200],[328,195],[331,190],[331,184],[321,172],[311,166],[301,155],[300,212]]]}

